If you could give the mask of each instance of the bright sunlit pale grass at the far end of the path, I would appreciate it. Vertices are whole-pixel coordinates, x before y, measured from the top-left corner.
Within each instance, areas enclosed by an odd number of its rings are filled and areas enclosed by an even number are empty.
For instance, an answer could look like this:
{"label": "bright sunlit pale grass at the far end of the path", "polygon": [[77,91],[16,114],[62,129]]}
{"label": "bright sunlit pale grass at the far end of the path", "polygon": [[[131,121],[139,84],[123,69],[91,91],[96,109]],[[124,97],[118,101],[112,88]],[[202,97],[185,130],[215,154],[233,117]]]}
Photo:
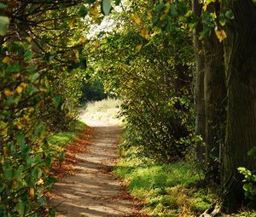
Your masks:
{"label": "bright sunlit pale grass at the far end of the path", "polygon": [[122,100],[113,98],[90,102],[86,105],[84,116],[110,125],[121,125],[122,119],[118,118],[121,103]]}

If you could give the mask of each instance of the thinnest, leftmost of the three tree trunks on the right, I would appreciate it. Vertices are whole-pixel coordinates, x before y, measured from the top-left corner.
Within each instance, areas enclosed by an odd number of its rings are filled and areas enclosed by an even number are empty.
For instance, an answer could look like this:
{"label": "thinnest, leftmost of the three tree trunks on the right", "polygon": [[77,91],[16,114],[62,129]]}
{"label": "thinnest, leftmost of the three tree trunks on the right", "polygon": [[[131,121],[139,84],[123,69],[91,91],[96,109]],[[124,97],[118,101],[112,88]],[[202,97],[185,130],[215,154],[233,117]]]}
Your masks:
{"label": "thinnest, leftmost of the three tree trunks on the right", "polygon": [[[198,0],[192,0],[193,13],[196,17],[201,16],[201,4]],[[205,115],[205,100],[204,100],[204,69],[205,69],[205,57],[203,53],[203,44],[199,39],[202,26],[199,24],[194,30],[194,49],[195,49],[195,134],[201,135],[202,142],[195,144],[196,158],[199,162],[205,160],[205,146],[204,139],[206,137],[206,115]]]}

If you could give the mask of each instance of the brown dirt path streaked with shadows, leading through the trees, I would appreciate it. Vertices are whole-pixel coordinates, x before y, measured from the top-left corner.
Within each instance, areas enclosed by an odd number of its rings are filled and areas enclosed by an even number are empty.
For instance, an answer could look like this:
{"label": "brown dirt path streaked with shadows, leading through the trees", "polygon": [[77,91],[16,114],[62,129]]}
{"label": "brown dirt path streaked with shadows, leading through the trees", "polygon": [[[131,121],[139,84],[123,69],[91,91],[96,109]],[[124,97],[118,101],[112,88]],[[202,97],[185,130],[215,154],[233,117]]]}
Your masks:
{"label": "brown dirt path streaked with shadows, leading through the trees", "polygon": [[104,123],[90,123],[94,145],[88,151],[77,154],[79,172],[66,176],[57,183],[50,205],[55,207],[56,216],[143,216],[137,214],[131,197],[109,173],[116,157],[121,128]]}

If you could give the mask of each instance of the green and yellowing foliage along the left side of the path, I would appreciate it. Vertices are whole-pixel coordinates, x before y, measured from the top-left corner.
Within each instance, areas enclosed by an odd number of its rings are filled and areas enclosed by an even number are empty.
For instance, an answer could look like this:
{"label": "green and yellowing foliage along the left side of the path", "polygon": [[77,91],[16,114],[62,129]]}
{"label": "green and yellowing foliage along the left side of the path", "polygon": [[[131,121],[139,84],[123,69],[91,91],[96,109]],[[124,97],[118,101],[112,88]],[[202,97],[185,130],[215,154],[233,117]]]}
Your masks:
{"label": "green and yellowing foliage along the left side of the path", "polygon": [[79,40],[83,22],[76,18],[81,7],[59,1],[0,4],[3,217],[54,214],[45,198],[55,183],[49,170],[56,157],[47,138],[50,129],[67,128],[76,113],[79,73],[73,72],[86,66]]}

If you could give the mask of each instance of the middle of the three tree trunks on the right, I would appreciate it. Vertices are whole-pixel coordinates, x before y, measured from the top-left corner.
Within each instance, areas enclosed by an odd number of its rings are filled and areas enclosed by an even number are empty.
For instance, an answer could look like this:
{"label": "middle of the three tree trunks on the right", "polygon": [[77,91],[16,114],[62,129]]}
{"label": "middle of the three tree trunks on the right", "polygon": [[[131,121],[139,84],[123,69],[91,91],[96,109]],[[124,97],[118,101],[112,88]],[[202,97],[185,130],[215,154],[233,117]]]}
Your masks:
{"label": "middle of the three tree trunks on the right", "polygon": [[[211,3],[210,12],[219,12],[219,3]],[[204,96],[206,113],[206,155],[208,178],[219,180],[220,146],[224,143],[226,97],[223,43],[215,33],[204,39],[205,78]]]}

